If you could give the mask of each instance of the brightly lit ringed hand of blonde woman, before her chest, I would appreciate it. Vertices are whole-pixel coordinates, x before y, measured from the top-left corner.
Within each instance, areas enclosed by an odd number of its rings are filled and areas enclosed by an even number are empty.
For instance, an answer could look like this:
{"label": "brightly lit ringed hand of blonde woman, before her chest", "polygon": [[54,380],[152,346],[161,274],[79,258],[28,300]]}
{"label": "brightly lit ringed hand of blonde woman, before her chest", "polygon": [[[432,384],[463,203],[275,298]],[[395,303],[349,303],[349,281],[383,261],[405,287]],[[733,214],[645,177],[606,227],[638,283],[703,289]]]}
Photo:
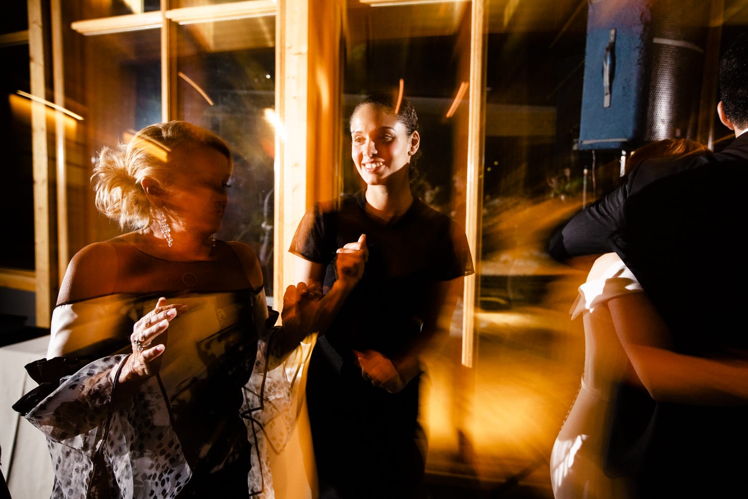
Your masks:
{"label": "brightly lit ringed hand of blonde woman, before her chest", "polygon": [[[165,298],[159,298],[156,307],[142,316],[132,327],[130,343],[132,355],[125,361],[120,373],[120,383],[150,378],[159,371],[161,355],[166,349],[167,335],[164,334],[171,319],[187,310],[183,304],[167,304]],[[154,340],[160,343],[153,345]]]}

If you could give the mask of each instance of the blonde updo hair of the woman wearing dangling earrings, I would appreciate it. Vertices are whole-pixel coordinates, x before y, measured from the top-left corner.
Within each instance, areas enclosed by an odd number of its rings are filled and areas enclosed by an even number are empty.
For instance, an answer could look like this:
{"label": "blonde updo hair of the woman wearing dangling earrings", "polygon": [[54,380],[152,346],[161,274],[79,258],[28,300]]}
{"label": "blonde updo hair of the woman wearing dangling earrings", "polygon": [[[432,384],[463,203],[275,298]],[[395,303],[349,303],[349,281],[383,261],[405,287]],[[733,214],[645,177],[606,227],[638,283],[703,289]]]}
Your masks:
{"label": "blonde updo hair of the woman wearing dangling earrings", "polygon": [[117,221],[122,229],[147,227],[153,206],[143,189],[143,179],[149,177],[168,194],[169,173],[179,168],[170,162],[171,152],[182,146],[212,147],[231,163],[228,145],[206,129],[186,121],[146,126],[129,144],[102,148],[91,175],[96,209]]}

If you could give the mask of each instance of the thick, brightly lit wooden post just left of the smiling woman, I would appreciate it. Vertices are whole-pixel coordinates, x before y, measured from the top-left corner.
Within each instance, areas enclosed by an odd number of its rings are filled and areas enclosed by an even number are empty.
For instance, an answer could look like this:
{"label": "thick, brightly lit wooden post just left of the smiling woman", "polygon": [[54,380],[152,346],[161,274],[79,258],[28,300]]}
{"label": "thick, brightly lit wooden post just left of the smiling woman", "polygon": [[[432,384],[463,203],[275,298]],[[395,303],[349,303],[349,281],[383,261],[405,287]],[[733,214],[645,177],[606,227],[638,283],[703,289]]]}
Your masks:
{"label": "thick, brightly lit wooden post just left of the smiling woman", "polygon": [[[317,200],[338,194],[343,0],[278,0],[275,155],[275,308],[290,282],[288,248]],[[295,284],[295,283],[293,283]]]}

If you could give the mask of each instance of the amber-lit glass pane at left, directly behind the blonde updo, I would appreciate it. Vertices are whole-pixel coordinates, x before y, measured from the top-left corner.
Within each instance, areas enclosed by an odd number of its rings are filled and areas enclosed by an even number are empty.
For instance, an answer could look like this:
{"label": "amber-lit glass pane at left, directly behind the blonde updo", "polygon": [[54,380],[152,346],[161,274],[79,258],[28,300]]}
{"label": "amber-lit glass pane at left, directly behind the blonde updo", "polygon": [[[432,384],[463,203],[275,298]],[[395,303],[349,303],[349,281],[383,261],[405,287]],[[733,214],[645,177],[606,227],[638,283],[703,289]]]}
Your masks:
{"label": "amber-lit glass pane at left, directly behind the blonde updo", "polygon": [[66,128],[70,257],[121,233],[94,206],[89,179],[99,151],[162,120],[160,30],[83,36],[70,28],[74,15],[64,10],[65,106],[84,119]]}

